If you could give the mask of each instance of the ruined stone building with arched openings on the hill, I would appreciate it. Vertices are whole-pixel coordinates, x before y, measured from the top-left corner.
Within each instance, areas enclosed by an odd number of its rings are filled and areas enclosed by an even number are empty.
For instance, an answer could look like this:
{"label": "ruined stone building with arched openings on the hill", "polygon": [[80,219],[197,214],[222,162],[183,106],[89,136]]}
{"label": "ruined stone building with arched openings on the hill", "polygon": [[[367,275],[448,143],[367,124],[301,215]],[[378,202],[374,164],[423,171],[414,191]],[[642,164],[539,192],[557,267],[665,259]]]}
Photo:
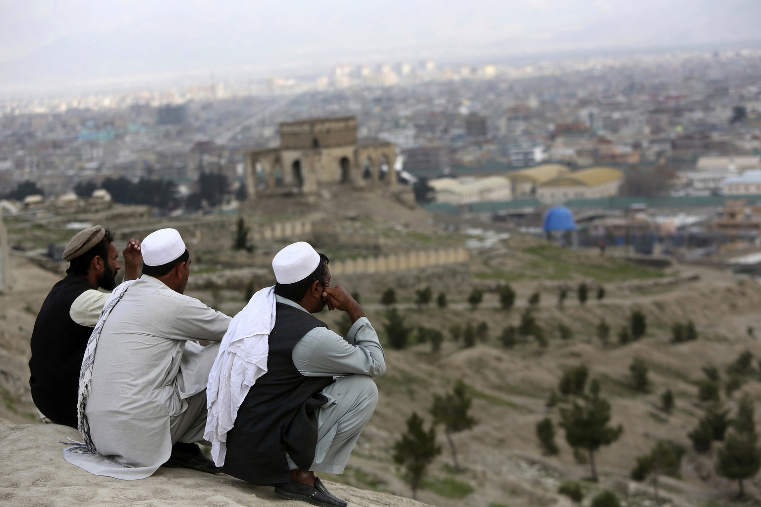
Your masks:
{"label": "ruined stone building with arched openings on the hill", "polygon": [[393,185],[395,159],[393,143],[357,139],[354,116],[284,122],[280,147],[246,154],[248,195],[311,194],[333,184]]}

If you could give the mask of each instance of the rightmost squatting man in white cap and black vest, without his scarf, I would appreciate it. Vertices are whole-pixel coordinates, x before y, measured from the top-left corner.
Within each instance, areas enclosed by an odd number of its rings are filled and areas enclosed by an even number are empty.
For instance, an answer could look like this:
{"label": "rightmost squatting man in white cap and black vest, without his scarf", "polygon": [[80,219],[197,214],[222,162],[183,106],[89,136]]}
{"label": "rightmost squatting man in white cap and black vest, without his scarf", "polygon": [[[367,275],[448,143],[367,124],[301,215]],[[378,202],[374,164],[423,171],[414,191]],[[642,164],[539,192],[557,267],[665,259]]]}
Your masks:
{"label": "rightmost squatting man in white cap and black vest, without his scarf", "polygon": [[[326,490],[314,472],[343,473],[375,410],[372,377],[386,371],[384,351],[361,306],[343,287],[330,287],[325,255],[307,242],[295,242],[275,255],[272,270],[274,289],[260,293],[274,293],[274,304],[253,306],[257,293],[243,310],[266,314],[275,308],[265,342],[266,373],[244,391],[240,407],[210,409],[210,420],[237,409],[226,434],[224,464],[216,464],[250,483],[274,484],[283,498],[344,507],[346,502]],[[349,314],[353,324],[346,337],[310,315],[326,305]],[[212,369],[210,385],[214,375]]]}

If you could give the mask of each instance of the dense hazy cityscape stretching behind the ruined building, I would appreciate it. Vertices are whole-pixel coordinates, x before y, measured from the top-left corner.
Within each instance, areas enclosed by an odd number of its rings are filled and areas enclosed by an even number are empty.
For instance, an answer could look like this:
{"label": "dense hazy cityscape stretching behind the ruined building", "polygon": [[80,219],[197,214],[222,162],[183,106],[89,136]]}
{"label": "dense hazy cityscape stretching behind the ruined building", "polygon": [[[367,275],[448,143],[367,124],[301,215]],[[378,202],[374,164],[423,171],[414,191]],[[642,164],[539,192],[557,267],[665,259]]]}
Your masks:
{"label": "dense hazy cityscape stretching behind the ruined building", "polygon": [[[757,49],[520,67],[428,60],[246,85],[6,99],[0,195],[33,182],[52,197],[119,177],[167,179],[187,195],[204,172],[224,174],[234,192],[244,155],[275,147],[280,122],[333,116],[355,116],[358,138],[393,142],[413,177],[614,166],[627,177],[607,195],[709,195],[759,169],[759,60]],[[638,182],[630,168],[660,173]]]}

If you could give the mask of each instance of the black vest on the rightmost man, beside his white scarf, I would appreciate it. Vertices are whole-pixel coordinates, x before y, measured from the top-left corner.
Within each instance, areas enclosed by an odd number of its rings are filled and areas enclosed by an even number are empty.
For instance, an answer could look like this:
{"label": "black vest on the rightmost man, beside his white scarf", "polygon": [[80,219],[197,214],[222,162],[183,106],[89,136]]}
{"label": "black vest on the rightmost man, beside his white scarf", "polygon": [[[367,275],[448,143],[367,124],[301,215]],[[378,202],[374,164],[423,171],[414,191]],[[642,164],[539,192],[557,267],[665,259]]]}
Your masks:
{"label": "black vest on the rightmost man, beside his white scarf", "polygon": [[319,327],[327,326],[307,312],[277,303],[267,372],[248,390],[228,432],[225,474],[254,484],[287,483],[286,452],[298,467],[311,466],[317,445],[314,412],[326,403],[320,391],[333,377],[301,375],[291,354],[304,334]]}

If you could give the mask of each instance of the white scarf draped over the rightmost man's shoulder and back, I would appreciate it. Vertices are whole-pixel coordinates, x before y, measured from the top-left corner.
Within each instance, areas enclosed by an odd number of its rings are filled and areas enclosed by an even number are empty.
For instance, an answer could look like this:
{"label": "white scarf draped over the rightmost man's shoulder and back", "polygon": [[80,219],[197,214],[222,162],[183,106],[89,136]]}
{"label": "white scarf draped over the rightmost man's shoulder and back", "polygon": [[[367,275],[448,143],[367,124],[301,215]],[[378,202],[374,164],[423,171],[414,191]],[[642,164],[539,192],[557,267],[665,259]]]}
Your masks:
{"label": "white scarf draped over the rightmost man's shoulder and back", "polygon": [[206,385],[206,428],[218,467],[227,455],[227,433],[249,388],[267,372],[269,334],[275,325],[275,287],[254,294],[230,322]]}

